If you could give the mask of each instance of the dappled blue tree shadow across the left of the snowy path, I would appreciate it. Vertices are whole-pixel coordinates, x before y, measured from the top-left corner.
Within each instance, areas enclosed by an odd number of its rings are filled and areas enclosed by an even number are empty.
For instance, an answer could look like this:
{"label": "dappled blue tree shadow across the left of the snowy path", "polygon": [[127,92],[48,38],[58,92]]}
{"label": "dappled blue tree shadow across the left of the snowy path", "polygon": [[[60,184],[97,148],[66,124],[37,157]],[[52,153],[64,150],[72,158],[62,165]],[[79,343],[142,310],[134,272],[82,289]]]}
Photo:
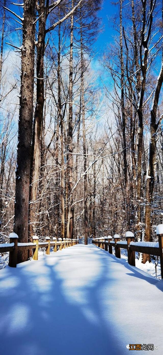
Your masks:
{"label": "dappled blue tree shadow across the left of the snowy path", "polygon": [[[116,325],[112,319],[108,325],[101,310],[99,290],[112,282],[105,261],[97,255],[98,275],[91,271],[85,284],[87,277],[80,273],[75,249],[61,253],[4,270],[5,278],[0,278],[1,354],[126,354]],[[69,258],[71,271],[67,269]],[[107,314],[112,313],[111,307],[107,305]]]}

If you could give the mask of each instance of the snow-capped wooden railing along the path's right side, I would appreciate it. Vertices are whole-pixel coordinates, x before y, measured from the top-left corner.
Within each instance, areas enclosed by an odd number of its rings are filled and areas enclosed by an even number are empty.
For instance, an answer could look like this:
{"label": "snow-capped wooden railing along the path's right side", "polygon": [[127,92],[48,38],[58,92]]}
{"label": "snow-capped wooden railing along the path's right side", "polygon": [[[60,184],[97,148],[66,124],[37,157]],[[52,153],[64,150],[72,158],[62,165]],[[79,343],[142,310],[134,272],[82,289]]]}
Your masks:
{"label": "snow-capped wooden railing along the path's right side", "polygon": [[[155,255],[160,257],[161,278],[163,279],[163,224],[157,226],[156,234],[158,242],[135,242],[134,234],[126,232],[126,240],[120,240],[120,235],[115,234],[113,238],[107,237],[95,238],[92,243],[101,249],[109,251],[112,254],[112,248],[115,247],[115,256],[121,258],[121,249],[127,250],[128,263],[135,266],[135,251],[139,253]],[[113,240],[112,240],[113,239]]]}

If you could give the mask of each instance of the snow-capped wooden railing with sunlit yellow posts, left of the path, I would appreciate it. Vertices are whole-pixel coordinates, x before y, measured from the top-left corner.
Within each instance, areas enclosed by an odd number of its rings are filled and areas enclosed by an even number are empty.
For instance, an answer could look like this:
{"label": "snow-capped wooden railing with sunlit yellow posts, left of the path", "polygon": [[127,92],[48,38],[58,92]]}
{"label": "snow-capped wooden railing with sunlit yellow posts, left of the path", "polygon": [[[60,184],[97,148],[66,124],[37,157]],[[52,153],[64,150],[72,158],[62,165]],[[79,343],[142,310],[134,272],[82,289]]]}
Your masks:
{"label": "snow-capped wooden railing with sunlit yellow posts, left of the path", "polygon": [[57,252],[57,246],[59,246],[59,250],[62,250],[78,244],[77,239],[63,238],[62,240],[62,238],[59,238],[59,241],[57,241],[55,237],[53,237],[53,241],[51,241],[50,237],[46,237],[45,242],[39,242],[39,237],[37,236],[33,236],[33,243],[18,243],[18,235],[15,233],[10,233],[9,238],[10,243],[0,244],[0,253],[9,251],[8,265],[11,267],[16,267],[18,250],[33,249],[33,260],[38,260],[39,248],[46,248],[46,254],[49,255],[51,246],[53,246],[53,251]]}

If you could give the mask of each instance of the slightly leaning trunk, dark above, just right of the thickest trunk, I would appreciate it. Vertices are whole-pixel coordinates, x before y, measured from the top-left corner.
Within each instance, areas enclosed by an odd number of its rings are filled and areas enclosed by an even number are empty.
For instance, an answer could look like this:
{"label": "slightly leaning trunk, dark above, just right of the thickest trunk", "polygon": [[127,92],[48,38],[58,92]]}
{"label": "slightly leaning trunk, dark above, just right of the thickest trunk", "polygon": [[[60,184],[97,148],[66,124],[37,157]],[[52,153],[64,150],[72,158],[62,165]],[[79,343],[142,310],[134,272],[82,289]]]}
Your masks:
{"label": "slightly leaning trunk, dark above, just right of the thickest trunk", "polygon": [[[33,140],[32,140],[32,156],[31,156],[31,180],[30,180],[30,210],[29,210],[29,237],[30,240],[35,233],[35,201],[37,196],[37,189],[39,184],[39,173],[40,173],[40,135],[41,135],[41,125],[43,122],[43,106],[44,106],[44,52],[45,52],[45,35],[46,35],[46,19],[48,16],[48,3],[46,1],[39,1],[39,33],[37,41],[37,58],[36,58],[36,76],[37,76],[37,86],[36,86],[36,108],[34,116],[33,125]],[[41,16],[45,13],[44,16]]]}

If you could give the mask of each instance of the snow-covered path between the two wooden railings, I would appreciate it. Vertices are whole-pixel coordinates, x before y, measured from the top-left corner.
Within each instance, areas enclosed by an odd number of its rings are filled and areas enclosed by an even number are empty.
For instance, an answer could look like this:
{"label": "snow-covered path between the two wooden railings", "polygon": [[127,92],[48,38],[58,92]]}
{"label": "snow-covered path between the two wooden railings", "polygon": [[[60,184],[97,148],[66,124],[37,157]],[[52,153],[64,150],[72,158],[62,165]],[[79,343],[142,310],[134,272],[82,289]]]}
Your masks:
{"label": "snow-covered path between the two wooden railings", "polygon": [[163,354],[162,281],[94,245],[0,271],[0,354]]}

